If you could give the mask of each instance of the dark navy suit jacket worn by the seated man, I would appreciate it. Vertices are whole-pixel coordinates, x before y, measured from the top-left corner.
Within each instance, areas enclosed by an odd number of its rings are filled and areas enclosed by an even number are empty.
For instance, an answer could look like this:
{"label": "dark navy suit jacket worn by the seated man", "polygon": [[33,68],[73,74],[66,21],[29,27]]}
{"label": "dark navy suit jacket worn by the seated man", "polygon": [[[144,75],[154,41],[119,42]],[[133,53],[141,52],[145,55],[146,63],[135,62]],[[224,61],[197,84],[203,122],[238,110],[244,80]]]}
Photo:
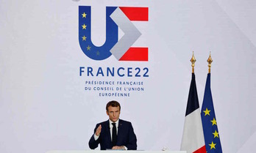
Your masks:
{"label": "dark navy suit jacket worn by the seated man", "polygon": [[[110,122],[99,123],[102,125],[102,132],[99,135],[99,138],[95,141],[94,136],[90,138],[89,147],[90,149],[96,149],[100,143],[101,150],[112,149],[112,141],[110,136]],[[94,133],[96,133],[97,127],[99,124],[96,124]],[[94,135],[93,133],[93,135]],[[133,131],[131,122],[127,122],[119,119],[118,122],[118,138],[116,146],[126,146],[128,150],[137,149],[137,138]]]}

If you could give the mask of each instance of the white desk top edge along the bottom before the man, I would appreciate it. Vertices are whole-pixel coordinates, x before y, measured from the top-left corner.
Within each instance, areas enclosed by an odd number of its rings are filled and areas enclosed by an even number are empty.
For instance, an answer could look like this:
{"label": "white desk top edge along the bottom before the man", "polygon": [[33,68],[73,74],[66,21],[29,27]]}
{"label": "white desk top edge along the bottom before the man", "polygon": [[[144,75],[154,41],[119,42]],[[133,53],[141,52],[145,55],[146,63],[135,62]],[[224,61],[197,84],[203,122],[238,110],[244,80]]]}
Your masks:
{"label": "white desk top edge along the bottom before the man", "polygon": [[52,150],[46,153],[187,153],[186,151],[141,151],[141,150]]}

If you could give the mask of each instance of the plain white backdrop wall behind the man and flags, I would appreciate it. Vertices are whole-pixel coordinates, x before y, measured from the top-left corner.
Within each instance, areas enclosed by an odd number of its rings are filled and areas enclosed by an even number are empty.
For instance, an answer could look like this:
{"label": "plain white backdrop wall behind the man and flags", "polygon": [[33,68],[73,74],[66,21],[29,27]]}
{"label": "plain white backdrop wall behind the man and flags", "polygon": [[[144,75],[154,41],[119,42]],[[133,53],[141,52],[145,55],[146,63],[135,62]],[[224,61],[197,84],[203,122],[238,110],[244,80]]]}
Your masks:
{"label": "plain white backdrop wall behind the man and flags", "polygon": [[[92,7],[92,40],[105,38],[106,6],[149,7],[134,46],[149,48],[149,61],[89,59],[78,40],[79,6]],[[89,149],[105,105],[121,103],[138,149],[179,150],[192,51],[202,105],[207,58],[212,53],[212,94],[223,152],[249,152],[256,142],[256,2],[0,0],[0,150],[46,152]],[[149,78],[79,76],[79,67],[148,67]],[[143,92],[99,97],[85,81],[143,81]]]}

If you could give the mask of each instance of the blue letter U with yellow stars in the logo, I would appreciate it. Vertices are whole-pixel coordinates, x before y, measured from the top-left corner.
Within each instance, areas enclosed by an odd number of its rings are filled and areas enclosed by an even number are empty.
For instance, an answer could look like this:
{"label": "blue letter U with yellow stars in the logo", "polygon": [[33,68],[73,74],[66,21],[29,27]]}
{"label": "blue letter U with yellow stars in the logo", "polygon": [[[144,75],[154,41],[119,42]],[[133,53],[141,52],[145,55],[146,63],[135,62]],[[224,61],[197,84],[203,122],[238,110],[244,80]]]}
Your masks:
{"label": "blue letter U with yellow stars in the logo", "polygon": [[110,18],[117,7],[106,8],[106,41],[95,46],[91,41],[91,10],[88,6],[79,6],[79,44],[90,59],[103,60],[111,56],[110,49],[118,42],[118,26]]}

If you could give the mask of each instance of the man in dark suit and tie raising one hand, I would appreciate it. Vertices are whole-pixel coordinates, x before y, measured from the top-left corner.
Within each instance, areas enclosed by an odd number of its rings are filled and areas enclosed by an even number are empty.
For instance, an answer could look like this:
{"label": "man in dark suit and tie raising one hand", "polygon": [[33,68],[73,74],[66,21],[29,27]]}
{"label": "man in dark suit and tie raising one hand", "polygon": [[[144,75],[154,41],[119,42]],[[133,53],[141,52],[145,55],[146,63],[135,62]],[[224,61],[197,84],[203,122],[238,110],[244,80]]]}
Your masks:
{"label": "man in dark suit and tie raising one hand", "polygon": [[109,119],[96,124],[94,134],[89,141],[90,149],[96,149],[100,143],[101,150],[136,150],[137,138],[131,122],[119,119],[121,105],[116,101],[110,101],[107,103],[106,110]]}

